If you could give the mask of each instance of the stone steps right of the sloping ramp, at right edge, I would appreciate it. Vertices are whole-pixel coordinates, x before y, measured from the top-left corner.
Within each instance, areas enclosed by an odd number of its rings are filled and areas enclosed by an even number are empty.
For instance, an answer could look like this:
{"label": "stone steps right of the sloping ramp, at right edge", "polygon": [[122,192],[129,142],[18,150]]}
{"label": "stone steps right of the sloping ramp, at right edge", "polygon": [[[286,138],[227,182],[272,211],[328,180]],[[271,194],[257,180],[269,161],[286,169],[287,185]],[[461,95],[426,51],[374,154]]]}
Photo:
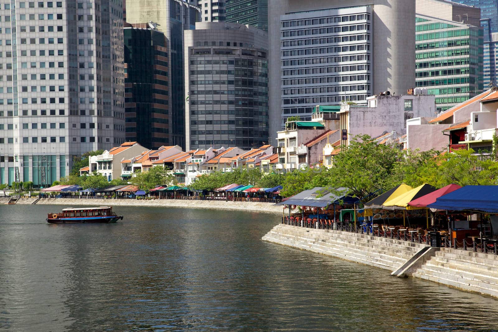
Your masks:
{"label": "stone steps right of the sloping ramp, at right edge", "polygon": [[441,248],[413,276],[498,297],[498,256],[492,253]]}

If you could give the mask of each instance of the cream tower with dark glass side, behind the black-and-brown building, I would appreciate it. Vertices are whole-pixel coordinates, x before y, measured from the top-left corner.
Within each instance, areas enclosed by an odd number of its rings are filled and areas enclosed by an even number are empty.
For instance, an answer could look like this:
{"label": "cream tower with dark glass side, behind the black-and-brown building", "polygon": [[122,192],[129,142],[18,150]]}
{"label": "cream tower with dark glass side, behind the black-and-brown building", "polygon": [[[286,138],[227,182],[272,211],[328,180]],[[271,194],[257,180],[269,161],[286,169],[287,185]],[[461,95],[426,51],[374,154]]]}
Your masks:
{"label": "cream tower with dark glass side, behind the black-and-brown building", "polygon": [[183,31],[195,28],[200,7],[185,0],[126,0],[126,21],[152,21],[164,32],[169,52],[170,145],[185,147],[185,93]]}

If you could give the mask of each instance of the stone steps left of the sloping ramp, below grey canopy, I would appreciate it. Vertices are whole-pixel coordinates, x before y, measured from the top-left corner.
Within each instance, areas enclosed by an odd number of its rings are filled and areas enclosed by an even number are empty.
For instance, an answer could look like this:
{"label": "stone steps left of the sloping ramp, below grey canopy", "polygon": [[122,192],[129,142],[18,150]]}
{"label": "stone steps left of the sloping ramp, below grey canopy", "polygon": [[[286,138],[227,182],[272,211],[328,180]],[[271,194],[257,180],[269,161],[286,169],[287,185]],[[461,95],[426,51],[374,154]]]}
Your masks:
{"label": "stone steps left of the sloping ramp, below grey canopy", "polygon": [[425,244],[339,230],[278,224],[262,240],[395,271]]}

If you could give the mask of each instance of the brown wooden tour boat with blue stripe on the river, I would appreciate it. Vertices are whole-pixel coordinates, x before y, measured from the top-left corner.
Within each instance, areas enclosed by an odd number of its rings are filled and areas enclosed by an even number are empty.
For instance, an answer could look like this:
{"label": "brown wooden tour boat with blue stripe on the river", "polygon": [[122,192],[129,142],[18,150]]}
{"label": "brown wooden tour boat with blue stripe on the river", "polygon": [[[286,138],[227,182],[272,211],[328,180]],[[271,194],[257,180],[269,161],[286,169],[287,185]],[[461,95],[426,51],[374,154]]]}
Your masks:
{"label": "brown wooden tour boat with blue stripe on the river", "polygon": [[123,220],[123,216],[118,216],[113,212],[112,207],[98,208],[67,208],[61,213],[49,213],[47,222],[49,223],[95,223],[95,222],[116,222]]}

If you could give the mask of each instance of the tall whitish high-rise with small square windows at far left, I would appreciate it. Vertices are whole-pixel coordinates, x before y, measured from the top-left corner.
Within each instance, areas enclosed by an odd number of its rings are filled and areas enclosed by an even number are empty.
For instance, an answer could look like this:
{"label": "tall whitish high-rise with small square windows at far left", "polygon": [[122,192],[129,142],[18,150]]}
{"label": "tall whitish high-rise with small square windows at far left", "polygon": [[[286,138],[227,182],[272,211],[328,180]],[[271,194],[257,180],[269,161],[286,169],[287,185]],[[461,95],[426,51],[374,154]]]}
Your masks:
{"label": "tall whitish high-rise with small square windows at far left", "polygon": [[0,182],[46,187],[124,142],[123,3],[0,5]]}

